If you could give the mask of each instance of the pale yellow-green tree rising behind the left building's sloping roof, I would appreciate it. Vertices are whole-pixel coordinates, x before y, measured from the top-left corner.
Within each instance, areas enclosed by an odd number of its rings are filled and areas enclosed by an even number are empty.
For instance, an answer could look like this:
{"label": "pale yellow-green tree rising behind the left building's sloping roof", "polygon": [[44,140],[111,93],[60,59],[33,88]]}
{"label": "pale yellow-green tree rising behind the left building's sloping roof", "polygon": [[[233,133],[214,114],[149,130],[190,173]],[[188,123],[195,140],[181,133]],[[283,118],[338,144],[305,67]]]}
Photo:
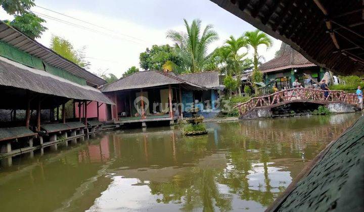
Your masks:
{"label": "pale yellow-green tree rising behind the left building's sloping roof", "polygon": [[72,61],[82,68],[87,69],[90,66],[90,63],[85,60],[85,46],[83,46],[81,49],[75,50],[71,42],[65,38],[53,35],[51,38],[51,48],[62,57]]}

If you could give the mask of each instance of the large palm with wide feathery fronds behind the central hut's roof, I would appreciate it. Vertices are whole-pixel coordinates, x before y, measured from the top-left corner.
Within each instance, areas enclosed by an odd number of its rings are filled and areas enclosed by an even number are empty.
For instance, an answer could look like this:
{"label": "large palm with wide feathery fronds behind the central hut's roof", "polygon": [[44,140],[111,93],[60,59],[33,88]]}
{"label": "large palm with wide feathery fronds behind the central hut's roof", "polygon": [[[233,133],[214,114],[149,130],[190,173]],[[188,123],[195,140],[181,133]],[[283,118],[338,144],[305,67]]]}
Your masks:
{"label": "large palm with wide feathery fronds behind the central hut's roof", "polygon": [[208,45],[218,39],[217,32],[212,30],[212,25],[207,25],[201,34],[201,20],[195,19],[191,25],[185,21],[187,32],[177,32],[169,30],[167,38],[174,41],[175,50],[178,56],[183,60],[184,67],[177,66],[171,61],[163,65],[163,69],[188,70],[190,72],[200,72],[203,70],[211,58],[206,54]]}

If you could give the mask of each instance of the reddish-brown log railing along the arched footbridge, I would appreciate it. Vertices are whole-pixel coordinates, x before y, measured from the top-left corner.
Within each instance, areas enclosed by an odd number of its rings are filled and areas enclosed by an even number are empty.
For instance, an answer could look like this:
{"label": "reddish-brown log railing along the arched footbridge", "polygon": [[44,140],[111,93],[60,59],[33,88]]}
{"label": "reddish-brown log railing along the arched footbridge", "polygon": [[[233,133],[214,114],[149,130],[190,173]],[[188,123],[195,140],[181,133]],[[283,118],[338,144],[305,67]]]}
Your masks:
{"label": "reddish-brown log railing along the arched footbridge", "polygon": [[[325,96],[325,92],[327,92],[327,96]],[[238,103],[234,108],[238,108],[239,114],[242,115],[254,108],[274,108],[289,102],[313,102],[317,104],[342,102],[357,107],[358,98],[355,93],[347,93],[342,90],[290,88],[270,95],[251,98],[244,103]]]}

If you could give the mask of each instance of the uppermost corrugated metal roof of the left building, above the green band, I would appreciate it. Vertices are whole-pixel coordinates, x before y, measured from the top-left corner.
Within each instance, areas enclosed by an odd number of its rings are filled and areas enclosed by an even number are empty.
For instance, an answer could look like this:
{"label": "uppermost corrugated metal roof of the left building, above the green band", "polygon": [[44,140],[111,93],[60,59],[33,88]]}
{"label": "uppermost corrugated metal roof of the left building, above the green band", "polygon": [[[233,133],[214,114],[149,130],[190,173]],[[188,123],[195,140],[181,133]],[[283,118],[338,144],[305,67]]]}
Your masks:
{"label": "uppermost corrugated metal roof of the left building, above the green band", "polygon": [[45,63],[85,79],[90,84],[100,86],[106,83],[102,78],[63,58],[52,49],[45,47],[2,21],[0,21],[0,40],[41,59]]}

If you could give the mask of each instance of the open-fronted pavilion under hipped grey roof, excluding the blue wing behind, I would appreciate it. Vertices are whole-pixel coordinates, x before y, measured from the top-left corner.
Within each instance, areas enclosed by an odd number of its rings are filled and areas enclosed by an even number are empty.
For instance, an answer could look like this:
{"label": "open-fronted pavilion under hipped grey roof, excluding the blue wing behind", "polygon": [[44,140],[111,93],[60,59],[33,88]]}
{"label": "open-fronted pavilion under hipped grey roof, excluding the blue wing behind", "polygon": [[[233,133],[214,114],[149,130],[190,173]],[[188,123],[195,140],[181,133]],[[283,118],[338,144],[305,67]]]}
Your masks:
{"label": "open-fronted pavilion under hipped grey roof, excluding the blue wing behind", "polygon": [[143,71],[102,89],[115,102],[112,117],[116,124],[142,123],[143,126],[146,122],[173,122],[183,116],[186,107],[181,104],[184,90],[202,91],[206,88],[173,73]]}

